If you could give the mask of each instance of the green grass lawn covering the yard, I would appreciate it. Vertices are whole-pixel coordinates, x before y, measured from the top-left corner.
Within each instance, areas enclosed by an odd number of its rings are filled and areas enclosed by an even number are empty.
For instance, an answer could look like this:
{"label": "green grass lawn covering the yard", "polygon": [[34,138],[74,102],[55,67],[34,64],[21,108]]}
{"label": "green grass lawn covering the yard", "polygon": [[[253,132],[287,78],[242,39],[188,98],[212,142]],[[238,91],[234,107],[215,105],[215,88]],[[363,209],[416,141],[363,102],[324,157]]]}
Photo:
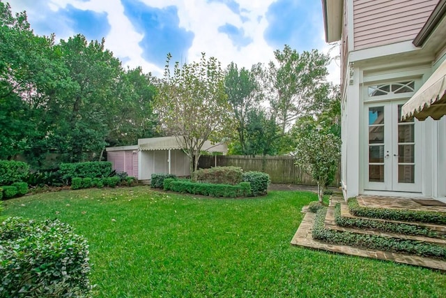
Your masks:
{"label": "green grass lawn covering the yard", "polygon": [[95,297],[446,297],[446,274],[290,245],[316,195],[209,199],[148,186],[30,195],[3,216],[89,239]]}

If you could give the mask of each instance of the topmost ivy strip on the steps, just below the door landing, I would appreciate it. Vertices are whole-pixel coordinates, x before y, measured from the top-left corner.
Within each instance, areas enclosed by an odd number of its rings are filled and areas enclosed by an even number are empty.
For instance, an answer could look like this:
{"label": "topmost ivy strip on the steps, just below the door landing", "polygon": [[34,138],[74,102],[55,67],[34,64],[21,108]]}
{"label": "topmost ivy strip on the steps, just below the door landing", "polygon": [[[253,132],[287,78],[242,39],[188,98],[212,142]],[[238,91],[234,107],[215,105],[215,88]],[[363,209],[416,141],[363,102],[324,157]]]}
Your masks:
{"label": "topmost ivy strip on the steps, just below the door landing", "polygon": [[362,207],[356,198],[348,199],[348,209],[350,209],[351,214],[359,217],[383,218],[392,221],[418,221],[420,223],[438,223],[440,225],[446,224],[446,212]]}

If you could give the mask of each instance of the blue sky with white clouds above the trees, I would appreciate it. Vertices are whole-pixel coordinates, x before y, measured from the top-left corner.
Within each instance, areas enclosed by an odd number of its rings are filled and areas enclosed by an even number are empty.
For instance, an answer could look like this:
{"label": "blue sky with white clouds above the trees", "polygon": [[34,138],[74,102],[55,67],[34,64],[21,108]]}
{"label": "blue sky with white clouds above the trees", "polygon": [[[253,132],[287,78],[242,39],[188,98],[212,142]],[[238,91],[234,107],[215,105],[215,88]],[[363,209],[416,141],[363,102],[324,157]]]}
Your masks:
{"label": "blue sky with white clouds above the trees", "polygon": [[[4,0],[3,0],[4,1]],[[82,33],[105,38],[105,46],[129,67],[161,75],[166,55],[196,61],[201,52],[226,66],[268,63],[273,52],[294,49],[326,52],[318,0],[13,0],[26,10],[38,35],[56,40]],[[330,77],[339,70],[330,66]]]}

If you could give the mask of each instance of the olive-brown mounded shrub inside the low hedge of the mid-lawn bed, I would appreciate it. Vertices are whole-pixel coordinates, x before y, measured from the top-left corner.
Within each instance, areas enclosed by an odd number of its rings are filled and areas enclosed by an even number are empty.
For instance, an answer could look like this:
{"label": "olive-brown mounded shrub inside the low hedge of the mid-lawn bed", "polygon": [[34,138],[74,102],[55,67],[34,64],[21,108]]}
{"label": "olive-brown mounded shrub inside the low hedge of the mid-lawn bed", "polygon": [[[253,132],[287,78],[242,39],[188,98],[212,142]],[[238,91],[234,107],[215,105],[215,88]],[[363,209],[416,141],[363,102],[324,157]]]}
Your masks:
{"label": "olive-brown mounded shrub inside the low hedge of the mid-lawn bed", "polygon": [[242,181],[241,167],[211,167],[194,172],[197,182],[236,185]]}

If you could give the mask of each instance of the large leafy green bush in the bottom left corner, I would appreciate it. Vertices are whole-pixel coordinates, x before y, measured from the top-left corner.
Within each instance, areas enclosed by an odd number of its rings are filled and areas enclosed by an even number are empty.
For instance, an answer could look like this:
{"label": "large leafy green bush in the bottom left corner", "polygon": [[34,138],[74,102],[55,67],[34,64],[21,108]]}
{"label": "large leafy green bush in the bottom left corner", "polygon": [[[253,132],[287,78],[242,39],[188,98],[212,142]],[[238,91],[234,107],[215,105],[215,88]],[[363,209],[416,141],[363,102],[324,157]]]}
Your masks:
{"label": "large leafy green bush in the bottom left corner", "polygon": [[58,220],[10,217],[0,225],[1,297],[87,297],[89,246]]}

